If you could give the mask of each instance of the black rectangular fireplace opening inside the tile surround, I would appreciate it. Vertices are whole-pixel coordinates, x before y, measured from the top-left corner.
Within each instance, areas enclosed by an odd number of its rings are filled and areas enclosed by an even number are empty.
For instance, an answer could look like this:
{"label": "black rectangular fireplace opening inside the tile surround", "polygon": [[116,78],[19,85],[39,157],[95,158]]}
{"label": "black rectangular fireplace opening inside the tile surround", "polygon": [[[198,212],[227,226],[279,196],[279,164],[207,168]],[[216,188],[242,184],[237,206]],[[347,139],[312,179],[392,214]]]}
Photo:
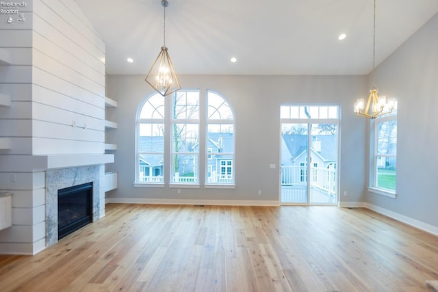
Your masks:
{"label": "black rectangular fireplace opening inside the tile surround", "polygon": [[92,222],[93,183],[66,187],[57,191],[57,238]]}

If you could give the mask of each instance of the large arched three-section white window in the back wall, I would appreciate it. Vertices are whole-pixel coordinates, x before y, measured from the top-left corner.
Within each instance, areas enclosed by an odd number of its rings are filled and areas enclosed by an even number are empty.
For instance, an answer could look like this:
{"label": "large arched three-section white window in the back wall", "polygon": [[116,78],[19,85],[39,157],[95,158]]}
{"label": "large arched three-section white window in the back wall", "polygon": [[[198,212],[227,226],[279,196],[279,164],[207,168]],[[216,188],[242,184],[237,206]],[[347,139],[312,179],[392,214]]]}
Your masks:
{"label": "large arched three-section white window in the back wall", "polygon": [[216,92],[153,94],[140,104],[136,124],[136,184],[234,183],[234,116]]}

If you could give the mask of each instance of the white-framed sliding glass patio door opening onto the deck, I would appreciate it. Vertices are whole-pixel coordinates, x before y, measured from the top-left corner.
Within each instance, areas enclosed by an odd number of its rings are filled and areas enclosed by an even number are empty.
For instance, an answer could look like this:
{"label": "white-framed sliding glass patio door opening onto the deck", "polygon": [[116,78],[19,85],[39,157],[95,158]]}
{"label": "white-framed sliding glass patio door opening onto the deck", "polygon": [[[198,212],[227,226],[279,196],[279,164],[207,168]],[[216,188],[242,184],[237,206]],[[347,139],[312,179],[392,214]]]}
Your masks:
{"label": "white-framed sliding glass patio door opening onto the deck", "polygon": [[337,204],[338,122],[323,117],[282,116],[281,204]]}

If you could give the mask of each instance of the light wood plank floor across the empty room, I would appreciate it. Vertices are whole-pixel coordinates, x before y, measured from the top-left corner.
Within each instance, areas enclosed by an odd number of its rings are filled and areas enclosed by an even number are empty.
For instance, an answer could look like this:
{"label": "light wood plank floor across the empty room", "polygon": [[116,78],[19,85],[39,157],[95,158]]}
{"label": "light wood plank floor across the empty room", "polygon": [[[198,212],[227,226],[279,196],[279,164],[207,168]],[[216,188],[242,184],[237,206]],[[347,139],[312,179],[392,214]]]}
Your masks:
{"label": "light wood plank floor across the empty room", "polygon": [[0,291],[425,291],[438,237],[367,209],[107,204]]}

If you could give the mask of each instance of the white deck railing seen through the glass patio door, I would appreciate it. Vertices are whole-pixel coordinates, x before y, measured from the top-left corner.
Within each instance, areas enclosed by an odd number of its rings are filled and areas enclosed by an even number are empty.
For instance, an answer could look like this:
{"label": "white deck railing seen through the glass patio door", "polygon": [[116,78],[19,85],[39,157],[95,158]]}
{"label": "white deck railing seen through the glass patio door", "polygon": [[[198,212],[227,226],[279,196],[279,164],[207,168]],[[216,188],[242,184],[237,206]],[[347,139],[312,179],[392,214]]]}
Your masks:
{"label": "white deck railing seen through the glass patio door", "polygon": [[[311,186],[327,191],[329,194],[336,194],[336,170],[327,168],[311,168],[309,174]],[[282,166],[281,185],[306,185],[307,167]]]}

